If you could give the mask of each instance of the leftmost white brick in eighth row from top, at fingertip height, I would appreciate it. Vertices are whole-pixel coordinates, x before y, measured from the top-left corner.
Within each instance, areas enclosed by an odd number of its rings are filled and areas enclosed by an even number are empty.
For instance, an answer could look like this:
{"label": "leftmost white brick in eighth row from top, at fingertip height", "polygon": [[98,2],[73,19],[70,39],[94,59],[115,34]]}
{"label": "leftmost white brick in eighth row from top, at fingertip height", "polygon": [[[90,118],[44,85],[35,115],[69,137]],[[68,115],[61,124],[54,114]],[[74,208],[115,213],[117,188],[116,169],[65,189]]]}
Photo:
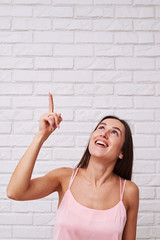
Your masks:
{"label": "leftmost white brick in eighth row from top, at fingertip height", "polygon": [[0,85],[0,94],[1,95],[27,95],[27,94],[32,94],[32,86],[31,85],[26,85],[25,88],[23,85],[20,84],[3,84]]}

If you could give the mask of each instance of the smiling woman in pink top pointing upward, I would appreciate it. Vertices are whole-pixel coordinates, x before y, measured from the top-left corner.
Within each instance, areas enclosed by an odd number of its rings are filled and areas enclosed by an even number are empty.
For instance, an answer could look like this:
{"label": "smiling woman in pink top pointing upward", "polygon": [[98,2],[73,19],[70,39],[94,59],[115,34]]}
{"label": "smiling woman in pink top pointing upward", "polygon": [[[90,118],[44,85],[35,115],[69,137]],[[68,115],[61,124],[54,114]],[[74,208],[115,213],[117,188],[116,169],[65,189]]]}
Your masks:
{"label": "smiling woman in pink top pointing upward", "polygon": [[139,191],[130,181],[133,146],[124,120],[100,121],[76,169],[58,168],[31,180],[42,144],[61,121],[49,94],[49,112],[11,177],[8,197],[32,200],[57,191],[54,240],[135,240]]}

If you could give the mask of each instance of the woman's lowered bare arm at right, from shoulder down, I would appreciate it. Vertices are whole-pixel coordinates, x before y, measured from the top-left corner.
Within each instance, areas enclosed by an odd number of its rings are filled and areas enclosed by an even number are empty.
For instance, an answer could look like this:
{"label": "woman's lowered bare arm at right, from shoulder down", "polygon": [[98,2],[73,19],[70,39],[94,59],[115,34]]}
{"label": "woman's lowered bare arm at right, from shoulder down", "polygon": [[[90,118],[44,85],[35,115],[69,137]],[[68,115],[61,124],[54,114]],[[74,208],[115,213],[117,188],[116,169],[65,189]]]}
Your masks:
{"label": "woman's lowered bare arm at right, from shoulder down", "polygon": [[127,182],[126,199],[128,202],[127,221],[122,240],[136,240],[137,216],[139,207],[139,189],[133,182]]}

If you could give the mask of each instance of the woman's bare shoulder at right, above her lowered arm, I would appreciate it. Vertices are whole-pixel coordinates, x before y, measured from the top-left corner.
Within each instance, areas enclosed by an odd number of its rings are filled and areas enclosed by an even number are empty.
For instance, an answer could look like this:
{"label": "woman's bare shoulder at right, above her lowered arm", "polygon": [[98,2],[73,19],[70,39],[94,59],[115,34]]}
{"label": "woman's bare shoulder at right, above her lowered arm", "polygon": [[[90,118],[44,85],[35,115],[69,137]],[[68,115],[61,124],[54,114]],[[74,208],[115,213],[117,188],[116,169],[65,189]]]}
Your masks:
{"label": "woman's bare shoulder at right, above her lowered arm", "polygon": [[128,207],[138,205],[139,203],[139,188],[134,182],[129,180],[126,180],[125,198],[127,200]]}

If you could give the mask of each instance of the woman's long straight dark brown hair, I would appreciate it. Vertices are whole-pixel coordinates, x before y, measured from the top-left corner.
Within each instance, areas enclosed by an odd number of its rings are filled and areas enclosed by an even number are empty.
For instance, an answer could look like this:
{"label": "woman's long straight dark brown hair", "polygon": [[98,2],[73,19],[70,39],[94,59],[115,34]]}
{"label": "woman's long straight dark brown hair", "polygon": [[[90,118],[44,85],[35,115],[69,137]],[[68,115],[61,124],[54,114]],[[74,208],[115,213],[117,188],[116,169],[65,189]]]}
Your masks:
{"label": "woman's long straight dark brown hair", "polygon": [[[116,175],[118,175],[118,176],[120,176],[124,179],[131,180],[131,178],[132,178],[132,166],[133,166],[133,140],[132,140],[131,129],[130,129],[128,123],[125,120],[122,120],[122,119],[120,119],[116,116],[106,116],[98,123],[98,125],[96,126],[94,131],[97,129],[99,124],[107,118],[117,119],[125,127],[125,140],[124,140],[124,143],[123,143],[123,146],[122,146],[123,159],[119,159],[119,158],[117,159],[117,162],[115,164],[113,172]],[[91,154],[89,152],[89,143],[88,143],[87,148],[86,148],[80,162],[77,164],[76,167],[81,167],[81,168],[87,167],[88,163],[89,163],[90,156],[91,156]]]}

